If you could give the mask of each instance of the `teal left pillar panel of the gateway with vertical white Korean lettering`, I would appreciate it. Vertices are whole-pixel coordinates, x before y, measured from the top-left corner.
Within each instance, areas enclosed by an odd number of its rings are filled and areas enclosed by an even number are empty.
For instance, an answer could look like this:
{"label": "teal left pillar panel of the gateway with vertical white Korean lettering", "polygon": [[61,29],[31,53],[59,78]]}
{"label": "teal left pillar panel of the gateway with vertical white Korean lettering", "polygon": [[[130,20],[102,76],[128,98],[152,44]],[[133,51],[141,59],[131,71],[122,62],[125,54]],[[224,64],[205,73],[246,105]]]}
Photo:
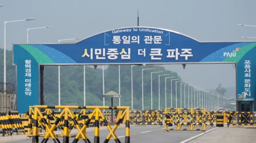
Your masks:
{"label": "teal left pillar panel of the gateway with vertical white Korean lettering", "polygon": [[[29,106],[39,104],[38,63],[22,47],[14,47],[14,63],[17,64],[17,109],[27,112]],[[18,59],[19,61],[15,61]]]}

